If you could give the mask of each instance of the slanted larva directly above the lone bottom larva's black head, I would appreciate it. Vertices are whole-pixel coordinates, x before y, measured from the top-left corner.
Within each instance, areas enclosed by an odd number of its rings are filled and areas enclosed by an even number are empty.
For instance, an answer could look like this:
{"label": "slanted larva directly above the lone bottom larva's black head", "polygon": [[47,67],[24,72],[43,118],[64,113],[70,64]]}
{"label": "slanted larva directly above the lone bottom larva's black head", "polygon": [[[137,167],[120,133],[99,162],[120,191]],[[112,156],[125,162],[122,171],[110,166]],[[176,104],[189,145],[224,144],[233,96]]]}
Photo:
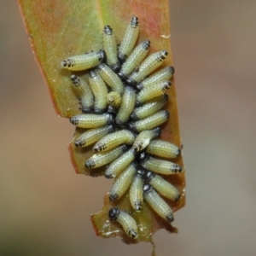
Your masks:
{"label": "slanted larva directly above the lone bottom larva's black head", "polygon": [[124,172],[121,172],[118,177],[114,179],[113,185],[109,192],[109,200],[116,201],[122,197],[127,189],[129,189],[131,182],[136,174],[137,164],[131,163]]}

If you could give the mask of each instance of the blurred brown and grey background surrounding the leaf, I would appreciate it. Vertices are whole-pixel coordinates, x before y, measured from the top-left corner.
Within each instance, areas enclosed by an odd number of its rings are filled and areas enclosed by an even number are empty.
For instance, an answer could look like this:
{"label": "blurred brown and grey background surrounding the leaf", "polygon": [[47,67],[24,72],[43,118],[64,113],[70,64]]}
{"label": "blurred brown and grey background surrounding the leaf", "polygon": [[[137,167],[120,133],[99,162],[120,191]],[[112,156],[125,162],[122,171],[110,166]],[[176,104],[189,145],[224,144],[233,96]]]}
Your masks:
{"label": "blurred brown and grey background surrounding the leaf", "polygon": [[[73,171],[73,125],[55,113],[18,4],[1,3],[0,255],[150,255],[95,235],[111,181]],[[154,235],[156,253],[255,255],[256,2],[170,3],[187,205],[177,235]]]}

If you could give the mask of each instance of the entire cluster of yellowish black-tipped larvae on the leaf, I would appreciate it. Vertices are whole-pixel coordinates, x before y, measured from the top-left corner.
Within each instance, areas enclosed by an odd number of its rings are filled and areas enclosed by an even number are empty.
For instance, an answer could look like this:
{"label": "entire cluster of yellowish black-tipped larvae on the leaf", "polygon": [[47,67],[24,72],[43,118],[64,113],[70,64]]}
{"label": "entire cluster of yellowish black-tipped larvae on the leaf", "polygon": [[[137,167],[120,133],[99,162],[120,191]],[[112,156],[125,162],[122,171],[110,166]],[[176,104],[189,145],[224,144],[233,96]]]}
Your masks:
{"label": "entire cluster of yellowish black-tipped larvae on the leaf", "polygon": [[[88,82],[71,75],[82,113],[70,122],[87,129],[76,139],[76,147],[95,143],[95,154],[86,160],[85,167],[107,166],[105,177],[114,178],[110,201],[118,201],[130,188],[135,212],[141,212],[146,201],[161,218],[172,222],[172,208],[161,196],[178,201],[180,193],[161,175],[183,172],[183,168],[162,158],[177,158],[181,150],[155,138],[161,134],[160,125],[169,118],[169,112],[161,108],[168,101],[166,90],[172,84],[174,68],[163,67],[154,73],[168,53],[161,50],[148,55],[150,41],[136,46],[138,34],[137,17],[131,18],[119,45],[112,28],[104,26],[103,49],[61,61],[63,68],[89,73]],[[137,239],[137,223],[128,212],[113,207],[108,216]]]}

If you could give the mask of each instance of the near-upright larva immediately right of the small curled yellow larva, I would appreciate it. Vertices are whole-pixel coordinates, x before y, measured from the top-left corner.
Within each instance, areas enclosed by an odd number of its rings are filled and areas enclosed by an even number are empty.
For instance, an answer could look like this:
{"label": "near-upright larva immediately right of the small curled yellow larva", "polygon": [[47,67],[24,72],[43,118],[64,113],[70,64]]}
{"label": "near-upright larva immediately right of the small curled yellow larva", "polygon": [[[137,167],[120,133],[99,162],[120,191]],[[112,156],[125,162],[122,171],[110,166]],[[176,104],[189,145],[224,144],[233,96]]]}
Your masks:
{"label": "near-upright larva immediately right of the small curled yellow larva", "polygon": [[125,87],[125,93],[122,97],[122,102],[118,113],[116,114],[116,124],[123,127],[130,118],[136,101],[136,92],[130,86]]}

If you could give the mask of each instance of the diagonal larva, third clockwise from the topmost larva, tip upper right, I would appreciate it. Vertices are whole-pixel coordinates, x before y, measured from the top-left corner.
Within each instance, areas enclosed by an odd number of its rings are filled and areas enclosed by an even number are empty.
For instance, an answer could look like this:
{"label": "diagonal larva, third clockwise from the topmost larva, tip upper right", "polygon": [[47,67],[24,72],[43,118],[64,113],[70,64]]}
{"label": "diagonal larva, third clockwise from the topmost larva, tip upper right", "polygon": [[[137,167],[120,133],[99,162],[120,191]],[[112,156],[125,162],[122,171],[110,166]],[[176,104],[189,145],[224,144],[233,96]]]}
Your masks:
{"label": "diagonal larva, third clockwise from the topmost larva, tip upper right", "polygon": [[162,62],[166,60],[167,55],[168,53],[166,50],[149,55],[138,67],[138,71],[131,73],[129,78],[126,80],[127,84],[135,87],[145,79],[149,73],[152,73],[156,68],[160,67]]}

